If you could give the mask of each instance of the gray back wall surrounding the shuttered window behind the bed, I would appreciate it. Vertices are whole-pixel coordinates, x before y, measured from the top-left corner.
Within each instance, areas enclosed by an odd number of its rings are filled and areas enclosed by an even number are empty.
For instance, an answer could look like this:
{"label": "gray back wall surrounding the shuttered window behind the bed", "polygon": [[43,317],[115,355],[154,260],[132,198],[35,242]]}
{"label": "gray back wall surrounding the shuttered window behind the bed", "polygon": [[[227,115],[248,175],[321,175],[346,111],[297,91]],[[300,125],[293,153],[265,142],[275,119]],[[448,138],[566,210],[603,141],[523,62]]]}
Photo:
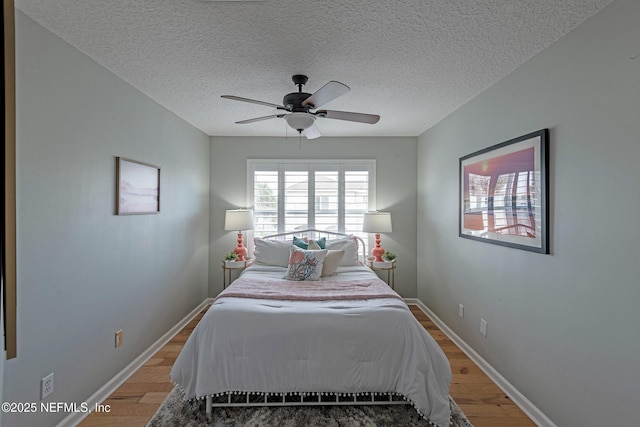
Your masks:
{"label": "gray back wall surrounding the shuttered window behind the bed", "polygon": [[247,159],[252,158],[376,159],[377,209],[391,212],[393,223],[382,246],[398,255],[396,290],[404,297],[416,296],[416,138],[303,138],[302,144],[297,137],[211,141],[210,296],[222,290],[220,260],[235,247],[235,233],[224,231],[224,212],[247,206]]}

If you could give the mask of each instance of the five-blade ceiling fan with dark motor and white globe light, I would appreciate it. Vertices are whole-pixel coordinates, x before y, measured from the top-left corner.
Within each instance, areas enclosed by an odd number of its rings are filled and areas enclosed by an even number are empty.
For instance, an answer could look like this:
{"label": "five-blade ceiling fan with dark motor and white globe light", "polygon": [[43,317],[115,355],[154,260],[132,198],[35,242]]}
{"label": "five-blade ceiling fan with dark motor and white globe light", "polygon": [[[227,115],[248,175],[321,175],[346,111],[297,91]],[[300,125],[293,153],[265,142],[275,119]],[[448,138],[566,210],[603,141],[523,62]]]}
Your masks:
{"label": "five-blade ceiling fan with dark motor and white globe light", "polygon": [[[273,114],[264,117],[256,117],[255,119],[240,120],[238,124],[247,124],[259,122],[269,119],[284,118],[292,129],[298,131],[299,134],[305,132],[307,139],[315,139],[320,137],[320,131],[316,126],[316,118],[324,117],[327,119],[346,120],[350,122],[374,124],[380,120],[380,116],[375,114],[352,113],[349,111],[335,110],[317,110],[318,107],[333,101],[339,96],[349,92],[349,86],[330,81],[322,86],[315,93],[310,94],[302,91],[309,80],[307,76],[296,74],[291,78],[293,83],[298,86],[298,92],[288,93],[282,99],[282,105],[273,104],[271,102],[257,101],[255,99],[242,98],[233,95],[222,95],[225,99],[234,101],[250,102],[252,104],[264,105],[275,108]],[[315,111],[314,111],[315,110]]]}

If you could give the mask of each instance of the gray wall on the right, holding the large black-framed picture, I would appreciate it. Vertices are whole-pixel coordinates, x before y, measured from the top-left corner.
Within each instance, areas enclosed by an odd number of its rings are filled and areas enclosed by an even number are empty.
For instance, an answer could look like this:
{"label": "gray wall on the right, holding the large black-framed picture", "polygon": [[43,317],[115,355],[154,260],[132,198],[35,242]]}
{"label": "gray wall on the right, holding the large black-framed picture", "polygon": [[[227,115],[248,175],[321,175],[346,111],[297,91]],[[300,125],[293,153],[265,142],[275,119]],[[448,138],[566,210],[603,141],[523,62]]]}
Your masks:
{"label": "gray wall on the right, holding the large black-framed picture", "polygon": [[[562,427],[638,420],[638,16],[614,2],[419,138],[418,297]],[[457,237],[458,158],[545,127],[551,254]]]}

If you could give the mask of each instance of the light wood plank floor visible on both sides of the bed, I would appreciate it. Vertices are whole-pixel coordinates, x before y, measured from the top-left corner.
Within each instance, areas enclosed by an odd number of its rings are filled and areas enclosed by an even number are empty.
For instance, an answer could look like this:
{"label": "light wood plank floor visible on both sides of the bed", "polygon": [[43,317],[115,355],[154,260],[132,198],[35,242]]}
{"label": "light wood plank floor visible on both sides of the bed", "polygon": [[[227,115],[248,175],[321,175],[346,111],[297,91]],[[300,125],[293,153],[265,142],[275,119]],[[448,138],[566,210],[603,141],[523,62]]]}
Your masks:
{"label": "light wood plank floor visible on both sides of the bed", "polygon": [[[411,311],[449,358],[453,381],[450,395],[475,427],[535,427],[535,424],[416,306]],[[104,405],[109,413],[92,413],[81,424],[144,426],[173,389],[171,366],[206,309],[120,386]]]}

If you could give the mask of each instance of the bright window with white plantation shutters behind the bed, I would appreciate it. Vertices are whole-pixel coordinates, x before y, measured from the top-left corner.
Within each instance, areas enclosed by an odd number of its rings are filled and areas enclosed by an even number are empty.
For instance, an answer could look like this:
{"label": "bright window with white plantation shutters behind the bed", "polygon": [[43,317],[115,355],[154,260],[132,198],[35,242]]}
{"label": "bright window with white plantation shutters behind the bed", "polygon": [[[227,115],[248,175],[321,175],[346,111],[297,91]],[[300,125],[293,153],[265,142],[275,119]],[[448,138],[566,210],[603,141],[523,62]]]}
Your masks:
{"label": "bright window with white plantation shutters behind the bed", "polygon": [[375,160],[247,160],[255,235],[315,228],[362,232],[375,206]]}

